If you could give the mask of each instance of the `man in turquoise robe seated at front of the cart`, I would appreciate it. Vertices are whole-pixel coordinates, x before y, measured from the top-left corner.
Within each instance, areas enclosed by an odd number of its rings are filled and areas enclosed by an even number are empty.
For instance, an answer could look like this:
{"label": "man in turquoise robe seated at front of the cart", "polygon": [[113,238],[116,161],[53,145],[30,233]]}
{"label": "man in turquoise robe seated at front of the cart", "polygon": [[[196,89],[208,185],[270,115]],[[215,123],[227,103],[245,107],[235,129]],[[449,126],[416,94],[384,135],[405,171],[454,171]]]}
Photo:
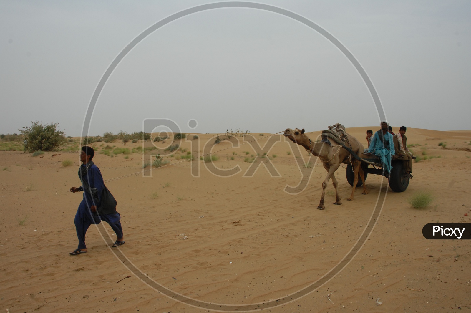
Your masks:
{"label": "man in turquoise robe seated at front of the cart", "polygon": [[374,133],[367,151],[367,153],[374,153],[380,158],[383,172],[385,172],[384,176],[387,178],[389,178],[392,169],[391,157],[395,153],[393,136],[388,132],[388,126],[386,121],[381,122],[381,129]]}

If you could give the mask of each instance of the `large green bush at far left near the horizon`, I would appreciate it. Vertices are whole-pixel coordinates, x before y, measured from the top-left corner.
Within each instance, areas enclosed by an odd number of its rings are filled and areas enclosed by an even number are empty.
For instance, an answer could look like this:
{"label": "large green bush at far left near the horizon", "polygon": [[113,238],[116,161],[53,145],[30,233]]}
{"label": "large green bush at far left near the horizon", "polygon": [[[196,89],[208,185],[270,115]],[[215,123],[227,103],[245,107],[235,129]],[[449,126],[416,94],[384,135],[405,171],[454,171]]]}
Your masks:
{"label": "large green bush at far left near the horizon", "polygon": [[36,121],[31,124],[30,127],[23,127],[23,130],[19,130],[24,135],[25,151],[53,151],[67,141],[65,132],[57,130],[59,123],[43,125]]}

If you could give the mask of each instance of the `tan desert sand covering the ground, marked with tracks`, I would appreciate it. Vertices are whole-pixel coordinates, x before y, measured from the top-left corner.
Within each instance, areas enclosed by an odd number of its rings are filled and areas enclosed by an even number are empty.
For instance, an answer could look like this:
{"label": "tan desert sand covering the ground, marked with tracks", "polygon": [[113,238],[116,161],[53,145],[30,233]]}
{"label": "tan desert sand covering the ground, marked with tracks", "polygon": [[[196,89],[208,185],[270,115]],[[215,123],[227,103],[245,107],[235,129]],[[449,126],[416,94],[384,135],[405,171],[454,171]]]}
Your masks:
{"label": "tan desert sand covering the ground, marked with tracks", "polygon": [[[365,144],[366,129],[377,127],[347,131]],[[164,156],[170,165],[154,168],[151,177],[140,173],[143,160],[138,153],[128,158],[97,153],[93,159],[122,215],[126,243],[113,249],[119,249],[118,256],[128,265],[145,273],[141,278],[154,280],[177,297],[196,300],[196,306],[156,291],[123,265],[108,246],[115,240],[108,225],[111,237],[104,233],[104,240],[102,226],[92,225],[86,238],[88,253],[69,255],[77,247],[73,218],[82,197],[69,192],[80,185],[78,152],[46,152],[38,157],[0,152],[0,309],[11,313],[209,312],[197,307],[203,302],[221,304],[216,312],[254,303],[266,307],[264,312],[278,313],[471,309],[470,241],[422,236],[426,223],[469,222],[464,214],[471,209],[471,131],[410,128],[407,142],[415,144],[414,154],[434,158],[413,164],[414,178],[405,192],[388,188],[373,230],[350,262],[323,286],[295,299],[286,296],[299,295],[331,271],[367,229],[382,177],[368,175],[369,194],[361,195],[358,188],[355,199],[347,201],[351,187],[345,168],[340,168],[336,177],[343,204],[332,204],[335,195],[329,183],[326,209],[317,210],[326,173],[316,158],[310,159],[307,187],[288,194],[286,185],[296,186],[301,179],[296,151],[280,135],[252,135],[260,147],[276,137],[276,143],[268,144],[269,161],[265,157],[260,164],[244,162],[256,156],[256,149],[242,145],[240,138],[239,147],[227,141],[213,146],[213,134],[198,134],[199,139],[188,135],[183,142],[188,151],[192,147],[203,151],[204,143],[210,142],[208,147],[219,157],[213,162],[219,170],[240,167],[229,177],[211,173],[206,167],[211,163],[180,159],[187,152]],[[319,132],[308,135],[316,139]],[[195,148],[198,141],[200,146]],[[169,143],[158,144],[163,148]],[[142,143],[117,140],[109,145],[131,148]],[[306,151],[299,151],[308,162]],[[64,160],[73,165],[62,166]],[[244,177],[254,164],[259,166],[255,173]],[[198,167],[199,177],[192,176]],[[114,180],[124,175],[130,176]],[[430,206],[414,209],[408,204],[418,191],[432,193]],[[276,299],[283,304],[276,306]]]}

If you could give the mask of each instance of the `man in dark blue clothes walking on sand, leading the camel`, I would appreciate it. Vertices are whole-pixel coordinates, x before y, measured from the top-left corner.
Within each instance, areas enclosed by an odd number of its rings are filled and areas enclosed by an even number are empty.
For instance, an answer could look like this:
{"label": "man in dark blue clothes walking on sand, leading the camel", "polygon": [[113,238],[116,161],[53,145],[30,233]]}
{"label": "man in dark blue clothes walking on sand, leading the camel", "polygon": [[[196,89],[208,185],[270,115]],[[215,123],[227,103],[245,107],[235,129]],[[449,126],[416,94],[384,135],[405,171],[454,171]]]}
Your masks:
{"label": "man in dark blue clothes walking on sand, leading the camel", "polygon": [[[103,177],[97,165],[93,164],[92,158],[95,151],[91,147],[84,146],[80,153],[80,161],[83,163],[79,169],[79,178],[82,186],[70,189],[71,192],[83,191],[83,199],[75,214],[75,230],[79,239],[79,246],[71,255],[78,255],[87,252],[85,245],[85,234],[91,224],[99,224],[105,221],[110,224],[116,233],[117,240],[113,247],[119,247],[124,244],[124,237],[121,227],[121,215],[116,212],[116,202],[105,187]],[[111,197],[104,197],[107,195]],[[113,198],[110,200],[110,198]]]}

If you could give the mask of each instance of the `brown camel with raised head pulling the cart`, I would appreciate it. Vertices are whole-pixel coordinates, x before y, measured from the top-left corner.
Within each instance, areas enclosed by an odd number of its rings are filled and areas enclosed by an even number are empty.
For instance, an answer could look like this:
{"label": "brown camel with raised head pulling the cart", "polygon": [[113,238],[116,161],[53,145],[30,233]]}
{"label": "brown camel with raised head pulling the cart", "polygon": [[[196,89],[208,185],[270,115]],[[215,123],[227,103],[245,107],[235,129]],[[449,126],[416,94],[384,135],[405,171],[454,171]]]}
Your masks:
{"label": "brown camel with raised head pulling the cart", "polygon": [[[351,150],[353,152],[361,152],[363,153],[363,145],[353,136],[348,135],[348,140],[351,145]],[[354,177],[355,180],[353,182],[353,190],[350,195],[350,198],[347,200],[353,200],[353,193],[355,192],[355,187],[357,186],[358,182],[358,173],[360,173],[361,181],[363,182],[363,192],[362,195],[366,195],[368,192],[366,191],[366,184],[365,184],[365,174],[363,173],[363,169],[361,168],[361,162],[358,161],[356,158],[351,157],[349,158],[350,152],[341,147],[340,145],[335,145],[333,143],[333,147],[331,147],[328,143],[321,141],[321,142],[312,142],[308,136],[304,134],[304,128],[302,130],[296,128],[292,130],[288,128],[284,131],[284,136],[288,137],[292,142],[297,143],[298,145],[304,147],[307,151],[312,153],[314,156],[319,157],[324,165],[325,170],[327,171],[327,176],[325,180],[322,182],[322,197],[319,202],[319,206],[317,208],[319,210],[324,210],[324,195],[325,195],[325,188],[327,187],[327,183],[332,178],[332,184],[335,188],[335,197],[336,200],[333,203],[334,205],[341,205],[341,199],[339,196],[339,190],[337,189],[338,183],[335,179],[334,173],[339,168],[342,163],[348,164],[352,163],[354,169]],[[332,140],[331,140],[332,141]],[[350,161],[350,160],[351,161]]]}

